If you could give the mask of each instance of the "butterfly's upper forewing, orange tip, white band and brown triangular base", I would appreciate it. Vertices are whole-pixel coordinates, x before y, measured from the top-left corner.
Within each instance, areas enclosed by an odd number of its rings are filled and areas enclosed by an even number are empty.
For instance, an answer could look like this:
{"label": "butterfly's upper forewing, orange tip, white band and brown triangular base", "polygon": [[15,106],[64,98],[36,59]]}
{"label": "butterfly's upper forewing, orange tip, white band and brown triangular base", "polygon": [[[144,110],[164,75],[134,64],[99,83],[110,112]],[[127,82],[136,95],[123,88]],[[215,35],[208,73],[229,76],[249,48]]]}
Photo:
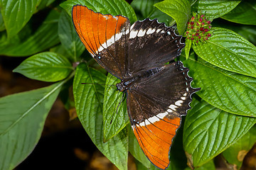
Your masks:
{"label": "butterfly's upper forewing, orange tip, white band and brown triangular base", "polygon": [[73,23],[80,40],[92,57],[121,79],[127,57],[129,20],[124,16],[95,13],[87,6],[73,6]]}

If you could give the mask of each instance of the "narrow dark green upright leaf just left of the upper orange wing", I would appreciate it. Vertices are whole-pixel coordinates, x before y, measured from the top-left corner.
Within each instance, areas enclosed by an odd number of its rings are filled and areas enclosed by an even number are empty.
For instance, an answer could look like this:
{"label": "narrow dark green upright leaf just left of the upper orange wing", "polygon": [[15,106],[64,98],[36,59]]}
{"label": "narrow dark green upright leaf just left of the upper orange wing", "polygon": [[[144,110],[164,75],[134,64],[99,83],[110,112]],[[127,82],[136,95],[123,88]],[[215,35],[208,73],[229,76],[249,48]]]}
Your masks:
{"label": "narrow dark green upright leaf just left of the upper orange wing", "polygon": [[80,57],[82,52],[85,50],[85,46],[78,37],[78,33],[75,32],[75,27],[70,16],[68,16],[68,13],[65,11],[60,14],[58,35],[60,42],[63,47],[65,47],[68,55],[70,55],[73,62],[77,62],[78,57]]}

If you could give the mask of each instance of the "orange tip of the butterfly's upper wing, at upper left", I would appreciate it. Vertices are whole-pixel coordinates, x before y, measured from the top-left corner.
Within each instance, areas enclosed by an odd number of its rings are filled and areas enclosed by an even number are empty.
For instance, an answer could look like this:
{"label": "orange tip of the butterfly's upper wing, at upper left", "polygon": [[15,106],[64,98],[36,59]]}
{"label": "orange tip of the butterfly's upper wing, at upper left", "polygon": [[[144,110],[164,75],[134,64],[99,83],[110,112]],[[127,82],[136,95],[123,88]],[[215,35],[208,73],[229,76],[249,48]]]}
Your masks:
{"label": "orange tip of the butterfly's upper wing, at upper left", "polygon": [[80,40],[92,56],[114,43],[115,35],[128,21],[124,16],[95,13],[81,5],[73,6],[72,18]]}

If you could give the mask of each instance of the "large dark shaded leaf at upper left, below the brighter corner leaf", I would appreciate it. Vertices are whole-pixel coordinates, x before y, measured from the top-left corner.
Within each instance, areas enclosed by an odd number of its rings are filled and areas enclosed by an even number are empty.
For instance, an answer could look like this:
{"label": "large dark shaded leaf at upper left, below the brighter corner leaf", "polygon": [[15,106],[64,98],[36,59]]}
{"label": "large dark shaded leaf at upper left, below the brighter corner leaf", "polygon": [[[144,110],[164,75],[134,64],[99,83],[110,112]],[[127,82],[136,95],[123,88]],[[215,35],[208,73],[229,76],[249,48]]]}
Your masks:
{"label": "large dark shaded leaf at upper left, below the brighter corner leaf", "polygon": [[[0,38],[0,55],[12,57],[28,56],[47,50],[49,47],[58,44],[60,42],[57,34],[58,18],[58,11],[52,10],[46,17],[46,20],[32,34],[28,34],[34,27],[32,23],[29,26],[26,25],[18,35],[11,39],[7,39],[3,33]],[[22,36],[23,38],[20,38]]]}

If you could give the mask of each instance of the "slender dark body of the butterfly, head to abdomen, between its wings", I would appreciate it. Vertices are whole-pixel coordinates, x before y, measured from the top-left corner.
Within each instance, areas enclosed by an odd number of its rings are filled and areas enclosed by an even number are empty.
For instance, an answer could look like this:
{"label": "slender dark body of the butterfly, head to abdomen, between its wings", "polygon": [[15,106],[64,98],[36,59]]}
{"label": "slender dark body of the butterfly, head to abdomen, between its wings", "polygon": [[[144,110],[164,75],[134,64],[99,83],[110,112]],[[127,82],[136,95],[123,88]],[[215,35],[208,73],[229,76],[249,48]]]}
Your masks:
{"label": "slender dark body of the butterfly, head to abdomen, between its wings", "polygon": [[138,81],[142,81],[144,79],[149,79],[149,77],[153,77],[155,74],[161,72],[163,67],[156,67],[154,69],[149,69],[148,71],[138,72],[137,74],[131,75],[130,77],[121,79],[121,82],[116,84],[117,90],[126,91],[129,90],[130,86],[133,86]]}

